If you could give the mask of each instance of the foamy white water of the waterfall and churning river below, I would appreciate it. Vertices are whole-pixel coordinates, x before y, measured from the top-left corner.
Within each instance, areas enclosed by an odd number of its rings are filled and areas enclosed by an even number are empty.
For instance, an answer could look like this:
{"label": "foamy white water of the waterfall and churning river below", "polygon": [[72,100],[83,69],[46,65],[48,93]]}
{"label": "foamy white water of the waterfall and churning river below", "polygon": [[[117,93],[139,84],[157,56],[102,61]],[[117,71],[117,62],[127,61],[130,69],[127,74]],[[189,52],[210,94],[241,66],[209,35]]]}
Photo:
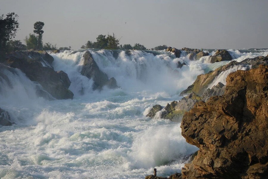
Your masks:
{"label": "foamy white water of the waterfall and churning river below", "polygon": [[[267,55],[228,51],[237,61]],[[179,100],[197,75],[228,62],[189,61],[164,51],[119,50],[117,58],[109,50],[90,52],[121,89],[92,91],[93,81],[80,75],[82,51],[51,54],[54,69],[71,80],[73,100],[38,98],[38,84],[20,70],[2,71],[12,85],[0,81],[0,107],[16,124],[0,127],[0,178],[144,178],[153,168],[168,176],[180,172],[186,156],[198,149],[181,136],[180,123],[145,115],[155,104]],[[178,61],[187,66],[177,69]],[[243,68],[230,69],[214,83]]]}

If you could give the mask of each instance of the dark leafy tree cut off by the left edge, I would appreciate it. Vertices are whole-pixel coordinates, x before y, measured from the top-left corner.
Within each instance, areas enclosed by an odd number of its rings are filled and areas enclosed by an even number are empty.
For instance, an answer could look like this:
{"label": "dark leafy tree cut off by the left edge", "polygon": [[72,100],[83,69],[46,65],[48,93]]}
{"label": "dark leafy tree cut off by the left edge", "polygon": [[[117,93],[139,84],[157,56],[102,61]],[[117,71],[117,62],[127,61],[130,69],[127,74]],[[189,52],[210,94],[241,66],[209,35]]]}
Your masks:
{"label": "dark leafy tree cut off by the left edge", "polygon": [[4,14],[0,16],[0,50],[6,48],[7,41],[15,38],[19,27],[17,18],[18,15],[14,12],[8,13],[6,18],[4,18]]}

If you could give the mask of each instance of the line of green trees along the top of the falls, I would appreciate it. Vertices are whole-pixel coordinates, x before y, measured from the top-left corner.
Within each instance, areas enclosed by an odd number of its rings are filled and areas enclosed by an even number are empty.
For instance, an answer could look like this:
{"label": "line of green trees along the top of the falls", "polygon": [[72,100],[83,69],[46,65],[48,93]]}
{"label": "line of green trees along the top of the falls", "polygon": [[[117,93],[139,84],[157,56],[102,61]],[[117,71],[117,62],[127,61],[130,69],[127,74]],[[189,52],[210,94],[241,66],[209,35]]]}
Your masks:
{"label": "line of green trees along the top of the falls", "polygon": [[[18,15],[13,13],[8,13],[4,18],[4,14],[0,16],[0,50],[5,52],[19,51],[19,50],[71,50],[71,46],[69,47],[60,47],[57,48],[57,44],[51,44],[49,42],[43,44],[43,27],[45,25],[44,22],[37,21],[34,23],[34,34],[29,33],[28,36],[25,37],[24,41],[26,45],[24,45],[20,40],[11,40],[15,38],[16,32],[19,27],[18,23]],[[36,34],[36,35],[35,35]],[[122,37],[121,37],[122,38]],[[95,42],[87,41],[85,45],[82,45],[82,49],[111,49],[111,50],[149,50],[144,45],[136,43],[134,46],[130,44],[119,45],[119,41],[121,38],[116,38],[116,35],[108,34],[106,35],[98,35]],[[160,45],[150,50],[164,50],[166,49],[166,45]]]}

